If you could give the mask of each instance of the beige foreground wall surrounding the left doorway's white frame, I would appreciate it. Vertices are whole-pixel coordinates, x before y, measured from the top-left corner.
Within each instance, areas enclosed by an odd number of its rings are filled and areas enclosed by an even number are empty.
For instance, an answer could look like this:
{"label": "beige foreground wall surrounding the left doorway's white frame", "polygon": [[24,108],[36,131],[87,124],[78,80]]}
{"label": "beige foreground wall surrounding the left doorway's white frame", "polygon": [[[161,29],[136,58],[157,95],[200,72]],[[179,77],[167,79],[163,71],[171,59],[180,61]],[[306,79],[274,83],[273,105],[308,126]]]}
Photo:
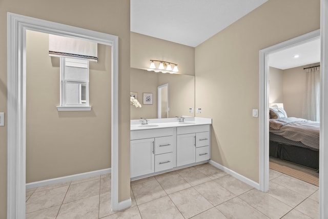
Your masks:
{"label": "beige foreground wall surrounding the left doorway's white frame", "polygon": [[[78,8],[76,7],[78,5]],[[65,6],[65,7],[64,7]],[[130,197],[130,1],[0,1],[0,111],[7,114],[7,12],[119,37],[119,201]],[[6,121],[7,122],[7,121]],[[0,218],[7,212],[7,125],[0,127]]]}

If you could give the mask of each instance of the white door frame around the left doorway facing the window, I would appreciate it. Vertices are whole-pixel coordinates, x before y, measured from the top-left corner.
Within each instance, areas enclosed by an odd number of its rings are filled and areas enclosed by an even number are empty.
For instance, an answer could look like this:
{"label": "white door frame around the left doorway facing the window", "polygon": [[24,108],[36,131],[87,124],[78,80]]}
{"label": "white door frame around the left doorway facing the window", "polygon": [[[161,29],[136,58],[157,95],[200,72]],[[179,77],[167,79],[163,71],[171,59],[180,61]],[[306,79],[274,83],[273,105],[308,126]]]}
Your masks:
{"label": "white door frame around the left doorway facing the window", "polygon": [[26,30],[82,38],[112,47],[111,207],[113,210],[128,207],[129,202],[118,202],[118,36],[8,13],[7,218],[25,218],[26,214]]}

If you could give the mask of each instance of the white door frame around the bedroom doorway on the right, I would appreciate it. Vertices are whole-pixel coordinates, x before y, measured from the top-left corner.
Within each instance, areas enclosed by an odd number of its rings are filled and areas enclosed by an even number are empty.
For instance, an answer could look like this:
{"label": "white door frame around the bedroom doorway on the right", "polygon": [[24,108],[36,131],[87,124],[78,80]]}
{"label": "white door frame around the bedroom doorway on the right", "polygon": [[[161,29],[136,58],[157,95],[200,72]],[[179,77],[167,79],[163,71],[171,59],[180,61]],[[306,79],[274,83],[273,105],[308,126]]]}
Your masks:
{"label": "white door frame around the bedroom doorway on the right", "polygon": [[262,49],[259,52],[259,189],[263,192],[267,192],[269,190],[269,54],[311,42],[319,38],[320,29]]}

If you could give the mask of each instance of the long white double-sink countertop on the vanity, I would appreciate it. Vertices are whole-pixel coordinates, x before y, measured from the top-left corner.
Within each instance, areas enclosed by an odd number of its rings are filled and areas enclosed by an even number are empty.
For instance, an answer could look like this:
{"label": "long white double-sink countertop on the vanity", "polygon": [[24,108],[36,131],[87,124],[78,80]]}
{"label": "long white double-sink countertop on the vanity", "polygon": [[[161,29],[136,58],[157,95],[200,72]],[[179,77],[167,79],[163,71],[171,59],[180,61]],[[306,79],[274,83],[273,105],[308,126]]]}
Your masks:
{"label": "long white double-sink countertop on the vanity", "polygon": [[212,118],[202,117],[185,117],[185,122],[178,122],[177,118],[154,118],[149,119],[148,125],[141,125],[139,120],[131,120],[130,130],[147,130],[147,129],[160,129],[182,126],[199,126],[199,125],[211,125]]}

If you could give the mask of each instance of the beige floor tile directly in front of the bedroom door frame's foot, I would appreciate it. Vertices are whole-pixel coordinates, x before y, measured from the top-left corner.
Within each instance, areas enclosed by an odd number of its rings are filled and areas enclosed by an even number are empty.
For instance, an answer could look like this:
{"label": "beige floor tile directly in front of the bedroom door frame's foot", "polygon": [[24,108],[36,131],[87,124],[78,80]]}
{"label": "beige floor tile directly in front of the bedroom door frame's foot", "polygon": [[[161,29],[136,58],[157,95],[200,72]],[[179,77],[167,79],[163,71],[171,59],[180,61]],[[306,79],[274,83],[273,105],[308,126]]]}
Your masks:
{"label": "beige floor tile directly in front of the bedroom door frame's foot", "polygon": [[252,189],[238,197],[271,219],[278,219],[292,210],[292,207],[257,189]]}

